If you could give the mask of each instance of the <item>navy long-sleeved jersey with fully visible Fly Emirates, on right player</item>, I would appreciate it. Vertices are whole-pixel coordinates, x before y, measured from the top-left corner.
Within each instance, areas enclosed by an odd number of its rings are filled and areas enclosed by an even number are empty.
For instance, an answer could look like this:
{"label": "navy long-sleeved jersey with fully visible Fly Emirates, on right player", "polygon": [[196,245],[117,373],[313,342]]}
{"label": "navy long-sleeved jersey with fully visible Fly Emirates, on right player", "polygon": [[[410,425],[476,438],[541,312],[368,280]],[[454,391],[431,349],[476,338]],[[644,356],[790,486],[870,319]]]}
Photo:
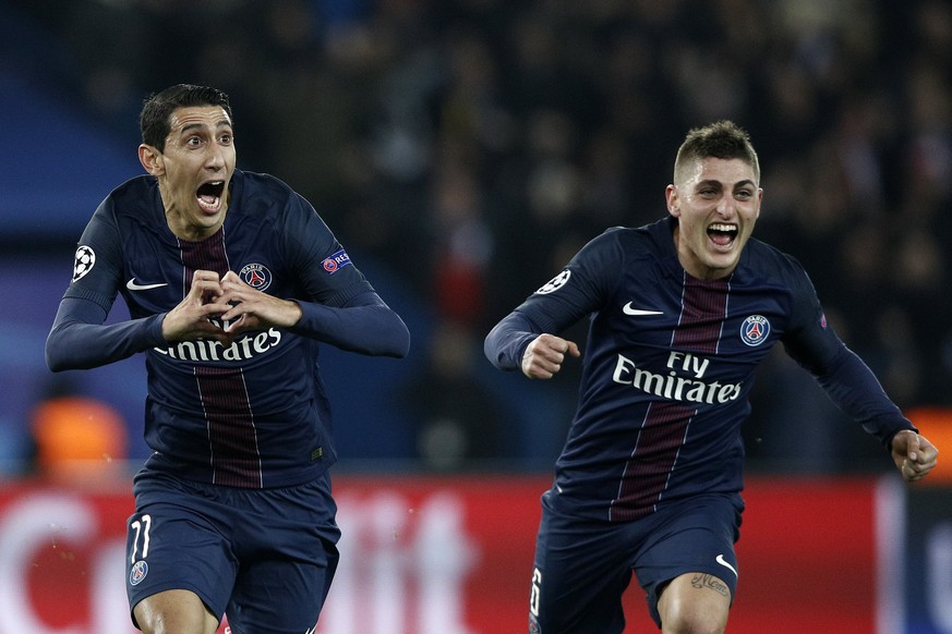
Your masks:
{"label": "navy long-sleeved jersey with fully visible Fly Emirates, on right player", "polygon": [[675,222],[606,231],[486,338],[486,356],[517,369],[538,334],[590,319],[556,508],[630,521],[665,500],[740,491],[740,425],[778,341],[883,443],[913,428],[829,327],[796,260],[750,240],[730,277],[696,279]]}

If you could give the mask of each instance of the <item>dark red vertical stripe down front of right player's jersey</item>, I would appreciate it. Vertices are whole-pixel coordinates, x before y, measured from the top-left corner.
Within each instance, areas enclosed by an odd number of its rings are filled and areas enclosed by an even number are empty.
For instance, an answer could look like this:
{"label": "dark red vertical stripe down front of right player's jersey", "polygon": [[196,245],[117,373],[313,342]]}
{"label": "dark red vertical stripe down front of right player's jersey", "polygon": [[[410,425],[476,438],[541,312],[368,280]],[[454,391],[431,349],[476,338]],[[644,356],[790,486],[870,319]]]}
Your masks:
{"label": "dark red vertical stripe down front of right player's jersey", "polygon": [[[726,280],[699,280],[685,275],[682,313],[672,333],[672,348],[715,354],[727,312],[728,291]],[[612,502],[611,521],[628,522],[653,512],[667,488],[695,414],[695,407],[674,401],[651,403],[635,451],[625,465],[618,498]]]}

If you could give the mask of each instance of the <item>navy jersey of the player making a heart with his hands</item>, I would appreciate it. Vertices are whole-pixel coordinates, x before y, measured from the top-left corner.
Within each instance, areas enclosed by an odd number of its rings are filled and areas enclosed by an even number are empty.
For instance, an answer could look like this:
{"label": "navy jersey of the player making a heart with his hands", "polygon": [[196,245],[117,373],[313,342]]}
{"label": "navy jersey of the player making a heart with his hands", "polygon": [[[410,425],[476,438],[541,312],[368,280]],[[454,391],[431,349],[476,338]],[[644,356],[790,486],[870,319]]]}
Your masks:
{"label": "navy jersey of the player making a heart with his hands", "polygon": [[[241,333],[230,346],[169,343],[161,319],[196,269],[236,271],[300,304],[293,328]],[[104,325],[117,292],[132,319]],[[214,484],[285,487],[336,460],[318,341],[402,356],[409,333],[311,205],[273,176],[236,170],[222,228],[200,242],[169,230],[156,180],[132,179],[96,210],[47,343],[53,369],[146,352],[148,466]]]}

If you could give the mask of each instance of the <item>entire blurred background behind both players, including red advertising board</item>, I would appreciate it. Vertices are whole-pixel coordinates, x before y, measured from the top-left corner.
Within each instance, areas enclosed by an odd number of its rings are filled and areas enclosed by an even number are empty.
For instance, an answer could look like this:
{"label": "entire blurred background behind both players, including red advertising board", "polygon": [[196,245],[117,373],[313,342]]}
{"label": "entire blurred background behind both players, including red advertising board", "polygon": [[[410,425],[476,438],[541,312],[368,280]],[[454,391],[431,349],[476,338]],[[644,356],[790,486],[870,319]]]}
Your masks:
{"label": "entire blurred background behind both players, including red advertising board", "polygon": [[[587,241],[665,216],[677,146],[716,119],[760,154],[755,236],[952,451],[948,0],[0,0],[0,634],[129,631],[122,571],[97,571],[148,453],[143,359],[52,375],[43,350],[86,221],[142,173],[143,98],[181,82],[231,95],[239,167],[309,198],[413,337],[403,361],[322,353],[353,554],[322,633],[403,631],[366,619],[405,597],[349,594],[396,561],[444,618],[406,631],[522,627],[579,368],[503,374],[483,338]],[[906,500],[780,348],[752,404],[733,631],[952,632],[949,490]]]}

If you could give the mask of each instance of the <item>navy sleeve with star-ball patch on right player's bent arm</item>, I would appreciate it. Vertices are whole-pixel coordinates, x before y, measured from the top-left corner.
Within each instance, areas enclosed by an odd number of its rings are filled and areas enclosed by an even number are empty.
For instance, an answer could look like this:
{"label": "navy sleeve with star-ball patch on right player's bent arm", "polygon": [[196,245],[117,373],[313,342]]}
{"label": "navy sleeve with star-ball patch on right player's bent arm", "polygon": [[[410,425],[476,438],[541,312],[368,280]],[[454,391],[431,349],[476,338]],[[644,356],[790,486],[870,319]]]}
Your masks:
{"label": "navy sleeve with star-ball patch on right player's bent arm", "polygon": [[544,332],[558,334],[598,310],[618,283],[625,254],[614,230],[589,242],[486,336],[483,352],[499,369],[521,367],[529,343]]}

